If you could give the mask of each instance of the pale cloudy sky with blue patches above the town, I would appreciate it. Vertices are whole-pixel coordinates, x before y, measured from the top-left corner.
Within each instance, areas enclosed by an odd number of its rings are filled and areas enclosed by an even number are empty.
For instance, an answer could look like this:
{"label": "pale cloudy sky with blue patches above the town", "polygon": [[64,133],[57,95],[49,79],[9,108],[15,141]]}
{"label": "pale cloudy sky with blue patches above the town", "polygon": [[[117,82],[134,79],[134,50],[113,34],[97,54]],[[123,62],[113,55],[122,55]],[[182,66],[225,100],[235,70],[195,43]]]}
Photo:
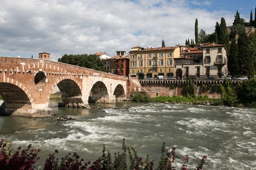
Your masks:
{"label": "pale cloudy sky with blue patches above the town", "polygon": [[[224,1],[224,2],[223,2]],[[131,47],[184,45],[199,30],[214,31],[236,10],[247,21],[256,3],[247,0],[0,0],[0,56],[52,60],[64,54],[130,51]],[[249,3],[251,2],[251,3]],[[254,18],[254,16],[253,16]]]}

